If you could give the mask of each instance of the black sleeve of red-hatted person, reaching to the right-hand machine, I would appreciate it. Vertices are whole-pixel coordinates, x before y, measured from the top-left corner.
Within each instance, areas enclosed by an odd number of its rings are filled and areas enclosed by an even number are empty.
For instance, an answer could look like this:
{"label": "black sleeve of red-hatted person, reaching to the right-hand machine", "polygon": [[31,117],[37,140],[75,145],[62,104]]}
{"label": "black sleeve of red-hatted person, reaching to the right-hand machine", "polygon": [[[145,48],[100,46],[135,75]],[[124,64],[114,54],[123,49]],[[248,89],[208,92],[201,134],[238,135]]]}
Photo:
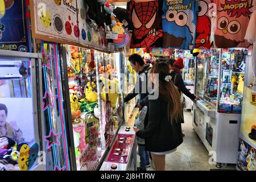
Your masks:
{"label": "black sleeve of red-hatted person, reaching to the right-hand machine", "polygon": [[175,86],[177,86],[177,88],[179,88],[179,91],[184,93],[191,100],[195,100],[196,96],[194,94],[192,94],[191,92],[189,92],[186,85],[184,84],[183,78],[180,75],[180,73],[172,71],[171,76],[172,76],[172,82],[174,82]]}

